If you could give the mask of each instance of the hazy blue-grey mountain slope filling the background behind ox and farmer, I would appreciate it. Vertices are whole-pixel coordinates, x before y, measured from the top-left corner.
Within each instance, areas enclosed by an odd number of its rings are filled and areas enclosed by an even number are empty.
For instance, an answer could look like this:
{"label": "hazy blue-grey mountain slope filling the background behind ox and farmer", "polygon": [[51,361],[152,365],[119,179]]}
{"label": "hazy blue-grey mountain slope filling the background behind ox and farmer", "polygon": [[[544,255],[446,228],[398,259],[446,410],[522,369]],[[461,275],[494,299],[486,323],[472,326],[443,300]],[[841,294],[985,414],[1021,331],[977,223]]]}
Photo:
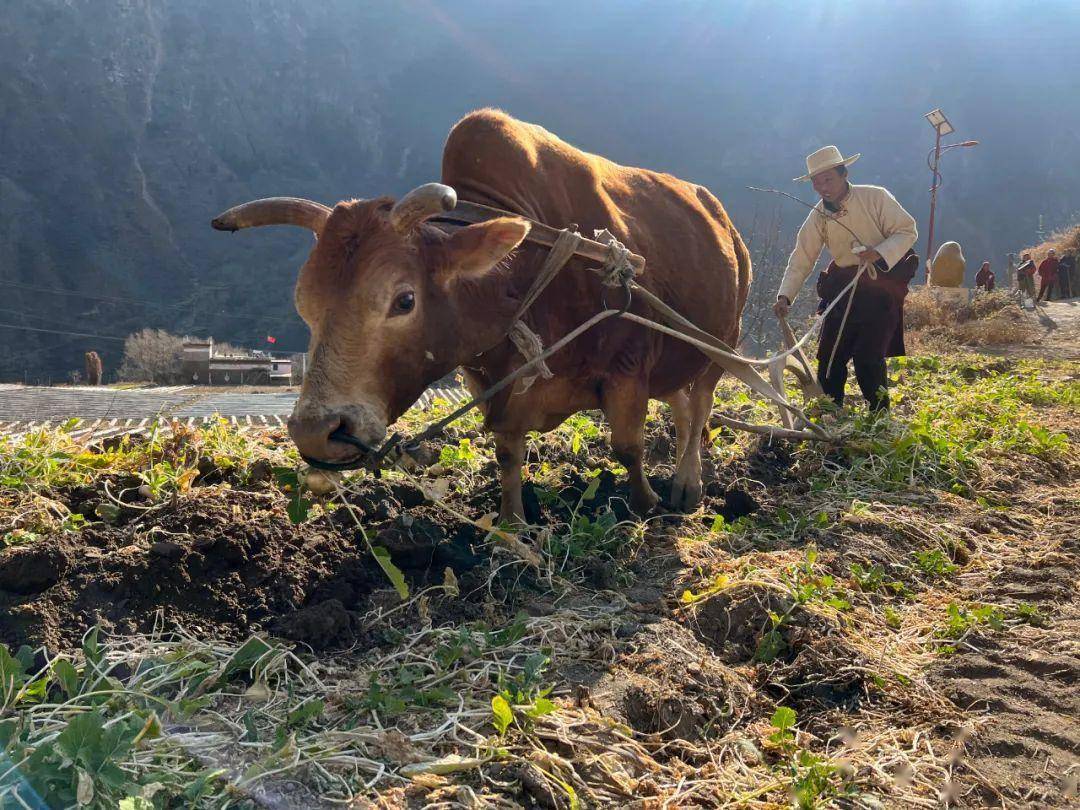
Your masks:
{"label": "hazy blue-grey mountain slope filling the background behind ox and farmer", "polygon": [[[1000,265],[1040,214],[1049,228],[1080,206],[1080,109],[1055,100],[1080,67],[1058,44],[1077,17],[1065,3],[971,19],[949,3],[10,0],[0,378],[63,378],[91,348],[108,373],[112,338],[146,325],[302,348],[291,285],[309,238],[226,238],[208,219],[258,195],[400,193],[437,176],[447,130],[485,105],[708,185],[757,238],[777,200],[745,186],[795,189],[822,143],[862,151],[858,179],[924,221],[921,116],[940,105],[983,141],[943,163],[940,239]],[[801,212],[781,216],[791,239]]]}

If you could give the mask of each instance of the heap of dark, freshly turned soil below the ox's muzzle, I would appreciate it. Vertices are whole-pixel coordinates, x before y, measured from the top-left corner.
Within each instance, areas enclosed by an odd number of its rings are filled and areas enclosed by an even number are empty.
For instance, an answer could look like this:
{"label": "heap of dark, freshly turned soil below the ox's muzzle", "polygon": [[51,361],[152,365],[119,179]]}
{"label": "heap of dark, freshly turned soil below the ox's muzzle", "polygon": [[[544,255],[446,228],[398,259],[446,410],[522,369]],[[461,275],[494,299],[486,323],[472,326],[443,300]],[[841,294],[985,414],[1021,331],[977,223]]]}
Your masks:
{"label": "heap of dark, freshly turned soil below the ox's muzzle", "polygon": [[[379,482],[362,497],[373,512],[397,512]],[[338,517],[343,510],[295,527],[285,505],[257,492],[193,490],[145,517],[125,511],[117,525],[92,524],[78,553],[65,532],[6,549],[0,613],[26,619],[0,622],[0,642],[70,649],[95,623],[145,632],[160,611],[224,638],[272,629],[313,648],[348,646],[353,616],[380,592],[397,596],[355,525]],[[168,539],[153,539],[159,532]],[[456,527],[447,541],[422,509],[388,521],[377,537],[414,584],[441,582],[445,566],[460,573],[480,559],[470,551],[475,532]]]}

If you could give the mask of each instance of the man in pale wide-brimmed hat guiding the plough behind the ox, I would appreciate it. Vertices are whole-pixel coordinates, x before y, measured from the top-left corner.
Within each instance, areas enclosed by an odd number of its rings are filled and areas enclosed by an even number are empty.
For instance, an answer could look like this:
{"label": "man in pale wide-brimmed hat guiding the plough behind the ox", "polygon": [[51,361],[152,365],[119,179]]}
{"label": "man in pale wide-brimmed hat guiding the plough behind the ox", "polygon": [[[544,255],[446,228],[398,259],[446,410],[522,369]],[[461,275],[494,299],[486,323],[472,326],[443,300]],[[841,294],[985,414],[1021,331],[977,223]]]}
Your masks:
{"label": "man in pale wide-brimmed hat guiding the plough behind the ox", "polygon": [[799,228],[773,311],[787,315],[823,248],[833,259],[818,278],[818,294],[826,305],[865,265],[851,297],[845,296],[822,325],[818,380],[842,405],[848,362],[854,361],[859,388],[877,410],[889,407],[885,359],[904,353],[904,298],[919,267],[912,249],[918,233],[915,219],[886,189],[848,180],[848,166],[856,160],[858,154],[845,158],[835,146],[807,158],[807,174],[797,180],[810,180],[821,202]]}

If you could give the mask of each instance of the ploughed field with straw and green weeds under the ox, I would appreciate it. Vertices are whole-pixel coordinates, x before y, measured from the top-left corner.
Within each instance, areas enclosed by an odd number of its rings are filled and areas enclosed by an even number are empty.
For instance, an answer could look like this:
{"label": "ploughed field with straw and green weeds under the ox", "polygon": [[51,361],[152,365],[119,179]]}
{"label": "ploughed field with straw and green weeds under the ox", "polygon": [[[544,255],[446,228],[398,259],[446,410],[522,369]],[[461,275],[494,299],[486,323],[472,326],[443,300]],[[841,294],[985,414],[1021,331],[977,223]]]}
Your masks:
{"label": "ploughed field with straw and green weeds under the ox", "polygon": [[837,447],[714,430],[693,514],[579,415],[527,529],[475,421],[337,484],[280,429],[0,438],[0,806],[1075,807],[1076,364],[892,373]]}

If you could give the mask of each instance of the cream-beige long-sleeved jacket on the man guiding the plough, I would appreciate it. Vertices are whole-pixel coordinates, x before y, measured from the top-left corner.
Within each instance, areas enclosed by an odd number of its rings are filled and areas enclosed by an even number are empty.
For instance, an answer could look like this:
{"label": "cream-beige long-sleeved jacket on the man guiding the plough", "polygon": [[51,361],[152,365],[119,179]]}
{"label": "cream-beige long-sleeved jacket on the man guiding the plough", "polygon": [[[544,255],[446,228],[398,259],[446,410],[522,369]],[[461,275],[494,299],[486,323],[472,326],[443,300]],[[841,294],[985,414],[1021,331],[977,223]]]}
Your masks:
{"label": "cream-beige long-sleeved jacket on the man guiding the plough", "polygon": [[[778,296],[795,300],[824,247],[840,267],[859,264],[852,251],[855,244],[873,247],[892,269],[919,238],[915,219],[880,186],[852,185],[836,214],[825,211],[824,205],[824,201],[819,201],[799,228]],[[858,239],[843,226],[854,231]]]}

